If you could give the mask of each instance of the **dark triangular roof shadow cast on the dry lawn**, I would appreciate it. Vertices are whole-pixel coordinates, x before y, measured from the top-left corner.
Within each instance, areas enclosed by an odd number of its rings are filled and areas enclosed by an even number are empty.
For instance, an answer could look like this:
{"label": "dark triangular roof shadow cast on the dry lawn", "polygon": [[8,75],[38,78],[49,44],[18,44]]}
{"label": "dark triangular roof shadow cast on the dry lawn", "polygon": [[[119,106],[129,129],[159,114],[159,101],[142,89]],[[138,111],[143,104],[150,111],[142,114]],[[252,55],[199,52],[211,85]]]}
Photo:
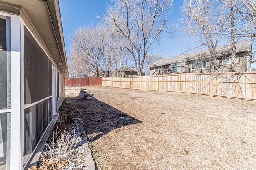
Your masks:
{"label": "dark triangular roof shadow cast on the dry lawn", "polygon": [[82,119],[89,141],[95,141],[113,129],[142,122],[95,98],[67,97],[61,108],[71,110],[74,117]]}

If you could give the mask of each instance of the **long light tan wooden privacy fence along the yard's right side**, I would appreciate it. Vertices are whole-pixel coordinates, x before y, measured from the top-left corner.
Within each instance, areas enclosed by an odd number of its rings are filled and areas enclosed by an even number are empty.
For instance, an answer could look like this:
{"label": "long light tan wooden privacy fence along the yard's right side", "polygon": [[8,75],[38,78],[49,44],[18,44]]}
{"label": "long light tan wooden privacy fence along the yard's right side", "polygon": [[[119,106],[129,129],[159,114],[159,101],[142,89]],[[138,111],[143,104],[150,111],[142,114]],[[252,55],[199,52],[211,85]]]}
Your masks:
{"label": "long light tan wooden privacy fence along the yard's right side", "polygon": [[107,87],[256,100],[256,73],[252,72],[103,77],[102,81]]}

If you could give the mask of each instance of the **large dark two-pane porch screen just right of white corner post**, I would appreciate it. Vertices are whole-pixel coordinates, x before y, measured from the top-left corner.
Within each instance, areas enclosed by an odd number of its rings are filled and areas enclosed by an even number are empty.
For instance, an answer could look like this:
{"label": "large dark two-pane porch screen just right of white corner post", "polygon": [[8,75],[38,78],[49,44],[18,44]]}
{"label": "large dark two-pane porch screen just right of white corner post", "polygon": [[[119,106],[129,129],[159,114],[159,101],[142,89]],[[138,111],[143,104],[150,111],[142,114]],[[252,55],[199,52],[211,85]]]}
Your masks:
{"label": "large dark two-pane porch screen just right of white corner post", "polygon": [[30,106],[24,109],[23,165],[48,127],[48,94],[52,93],[48,86],[48,81],[52,82],[48,79],[48,67],[51,73],[48,56],[24,26],[24,107]]}

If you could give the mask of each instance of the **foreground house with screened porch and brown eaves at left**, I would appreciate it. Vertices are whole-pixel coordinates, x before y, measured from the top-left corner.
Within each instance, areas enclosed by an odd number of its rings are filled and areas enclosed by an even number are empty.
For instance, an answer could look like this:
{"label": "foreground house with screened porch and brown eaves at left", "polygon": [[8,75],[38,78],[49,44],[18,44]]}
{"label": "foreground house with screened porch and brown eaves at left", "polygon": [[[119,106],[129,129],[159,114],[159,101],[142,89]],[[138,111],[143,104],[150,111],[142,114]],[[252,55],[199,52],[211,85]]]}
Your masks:
{"label": "foreground house with screened porch and brown eaves at left", "polygon": [[0,169],[23,170],[65,98],[58,0],[0,1],[0,73]]}

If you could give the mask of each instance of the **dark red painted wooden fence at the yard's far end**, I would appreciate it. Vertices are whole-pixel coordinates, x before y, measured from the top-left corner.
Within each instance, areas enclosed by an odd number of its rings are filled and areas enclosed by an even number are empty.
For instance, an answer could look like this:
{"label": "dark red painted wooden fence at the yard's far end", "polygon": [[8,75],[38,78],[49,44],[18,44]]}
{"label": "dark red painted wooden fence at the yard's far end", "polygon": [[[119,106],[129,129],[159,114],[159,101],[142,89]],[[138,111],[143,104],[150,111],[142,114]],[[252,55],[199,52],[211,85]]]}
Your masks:
{"label": "dark red painted wooden fence at the yard's far end", "polygon": [[84,77],[65,79],[66,87],[102,86],[102,77]]}

